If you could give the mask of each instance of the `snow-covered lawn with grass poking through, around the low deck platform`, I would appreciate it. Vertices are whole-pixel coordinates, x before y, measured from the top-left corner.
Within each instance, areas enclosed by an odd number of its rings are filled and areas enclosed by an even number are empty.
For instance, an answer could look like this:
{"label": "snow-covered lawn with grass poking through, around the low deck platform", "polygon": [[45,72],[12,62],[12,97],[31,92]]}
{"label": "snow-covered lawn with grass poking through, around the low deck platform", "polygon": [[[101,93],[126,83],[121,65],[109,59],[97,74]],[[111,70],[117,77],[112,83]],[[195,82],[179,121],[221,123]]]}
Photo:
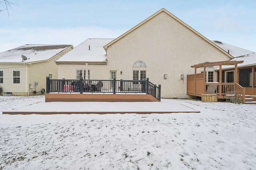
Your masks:
{"label": "snow-covered lawn with grass poking through, around the low deck platform", "polygon": [[256,105],[167,100],[201,113],[2,115],[44,95],[0,96],[0,170],[256,169]]}

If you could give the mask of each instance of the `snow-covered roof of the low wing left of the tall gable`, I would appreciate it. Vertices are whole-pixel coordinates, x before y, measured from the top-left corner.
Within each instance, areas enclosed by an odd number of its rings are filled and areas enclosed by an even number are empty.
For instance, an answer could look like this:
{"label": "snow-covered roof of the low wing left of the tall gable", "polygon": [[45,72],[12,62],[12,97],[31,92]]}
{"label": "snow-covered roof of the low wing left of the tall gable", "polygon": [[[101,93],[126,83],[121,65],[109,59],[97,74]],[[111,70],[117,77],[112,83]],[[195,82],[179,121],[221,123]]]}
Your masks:
{"label": "snow-covered roof of the low wing left of the tall gable", "polygon": [[103,46],[114,39],[88,38],[73,50],[60,57],[56,62],[102,62],[106,61]]}

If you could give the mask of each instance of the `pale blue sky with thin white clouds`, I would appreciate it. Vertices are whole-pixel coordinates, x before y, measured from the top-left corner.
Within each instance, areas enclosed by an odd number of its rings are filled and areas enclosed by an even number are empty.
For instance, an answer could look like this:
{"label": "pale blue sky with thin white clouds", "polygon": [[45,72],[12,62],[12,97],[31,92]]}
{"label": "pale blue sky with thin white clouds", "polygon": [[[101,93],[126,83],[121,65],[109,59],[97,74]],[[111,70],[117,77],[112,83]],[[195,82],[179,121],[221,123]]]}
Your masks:
{"label": "pale blue sky with thin white clouds", "polygon": [[[15,0],[10,0],[16,2]],[[165,8],[210,40],[256,52],[255,0],[17,0],[0,13],[0,52],[117,38]],[[2,6],[0,6],[0,9]]]}

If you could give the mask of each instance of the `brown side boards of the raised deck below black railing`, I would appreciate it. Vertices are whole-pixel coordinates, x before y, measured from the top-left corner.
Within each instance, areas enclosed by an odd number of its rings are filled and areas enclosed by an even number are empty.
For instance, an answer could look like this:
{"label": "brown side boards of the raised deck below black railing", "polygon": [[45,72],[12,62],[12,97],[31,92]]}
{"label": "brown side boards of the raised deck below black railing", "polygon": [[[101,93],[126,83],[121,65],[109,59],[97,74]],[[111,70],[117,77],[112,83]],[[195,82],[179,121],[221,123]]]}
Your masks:
{"label": "brown side boards of the raised deck below black railing", "polygon": [[45,102],[160,102],[150,94],[46,93]]}

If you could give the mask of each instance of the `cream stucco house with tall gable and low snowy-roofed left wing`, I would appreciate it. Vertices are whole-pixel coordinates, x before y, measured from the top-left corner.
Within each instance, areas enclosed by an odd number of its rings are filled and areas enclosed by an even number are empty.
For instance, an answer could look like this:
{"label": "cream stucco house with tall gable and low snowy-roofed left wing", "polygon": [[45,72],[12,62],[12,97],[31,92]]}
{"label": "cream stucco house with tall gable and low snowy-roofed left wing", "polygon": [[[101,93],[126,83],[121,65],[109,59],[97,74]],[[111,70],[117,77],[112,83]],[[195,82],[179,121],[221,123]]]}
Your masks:
{"label": "cream stucco house with tall gable and low snowy-roofed left wing", "polygon": [[[120,37],[99,43],[99,50],[105,45],[106,53],[100,52],[100,56],[106,54],[106,58],[88,59],[93,50],[91,40],[94,39],[84,42],[83,51],[75,48],[56,61],[59,79],[89,78],[84,76],[86,69],[90,70],[90,79],[149,78],[150,82],[162,85],[162,98],[187,98],[186,75],[194,73],[192,64],[234,58],[164,8]],[[84,58],[72,61],[76,53]],[[98,55],[91,57],[94,56]]]}

